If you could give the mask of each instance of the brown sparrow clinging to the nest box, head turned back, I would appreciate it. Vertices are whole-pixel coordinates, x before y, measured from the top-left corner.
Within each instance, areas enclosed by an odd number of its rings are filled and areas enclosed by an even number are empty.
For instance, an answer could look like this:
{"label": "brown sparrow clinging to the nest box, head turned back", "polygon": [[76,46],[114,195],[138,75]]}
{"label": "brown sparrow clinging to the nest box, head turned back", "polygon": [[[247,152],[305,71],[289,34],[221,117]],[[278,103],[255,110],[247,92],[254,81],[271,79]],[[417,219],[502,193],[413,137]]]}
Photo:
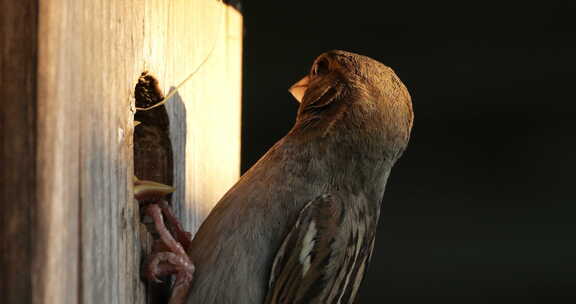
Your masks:
{"label": "brown sparrow clinging to the nest box, head turned back", "polygon": [[339,50],[316,58],[290,92],[300,106],[288,134],[192,240],[167,236],[183,262],[156,258],[149,273],[176,274],[171,303],[354,302],[386,182],[409,142],[411,97],[391,68]]}

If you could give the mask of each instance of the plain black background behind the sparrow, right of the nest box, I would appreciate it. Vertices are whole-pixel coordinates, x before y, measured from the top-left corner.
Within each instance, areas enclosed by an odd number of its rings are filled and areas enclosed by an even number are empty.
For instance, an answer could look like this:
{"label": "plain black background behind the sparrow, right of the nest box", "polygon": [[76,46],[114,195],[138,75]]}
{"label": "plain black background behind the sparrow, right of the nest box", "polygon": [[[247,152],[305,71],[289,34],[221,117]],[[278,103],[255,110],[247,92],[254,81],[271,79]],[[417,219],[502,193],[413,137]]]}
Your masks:
{"label": "plain black background behind the sparrow, right of the nest box", "polygon": [[416,119],[360,302],[575,296],[576,11],[417,3],[245,1],[243,172],[291,128],[317,55],[373,57]]}

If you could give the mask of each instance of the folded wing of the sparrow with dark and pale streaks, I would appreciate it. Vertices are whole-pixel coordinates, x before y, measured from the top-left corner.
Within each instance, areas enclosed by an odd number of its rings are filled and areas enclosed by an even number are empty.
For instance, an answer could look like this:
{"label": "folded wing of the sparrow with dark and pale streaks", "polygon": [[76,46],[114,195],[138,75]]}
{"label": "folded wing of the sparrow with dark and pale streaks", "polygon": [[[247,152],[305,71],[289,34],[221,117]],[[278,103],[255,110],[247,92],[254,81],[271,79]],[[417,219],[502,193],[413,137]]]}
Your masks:
{"label": "folded wing of the sparrow with dark and pale streaks", "polygon": [[309,202],[276,254],[265,303],[353,303],[374,245],[359,216],[332,195]]}

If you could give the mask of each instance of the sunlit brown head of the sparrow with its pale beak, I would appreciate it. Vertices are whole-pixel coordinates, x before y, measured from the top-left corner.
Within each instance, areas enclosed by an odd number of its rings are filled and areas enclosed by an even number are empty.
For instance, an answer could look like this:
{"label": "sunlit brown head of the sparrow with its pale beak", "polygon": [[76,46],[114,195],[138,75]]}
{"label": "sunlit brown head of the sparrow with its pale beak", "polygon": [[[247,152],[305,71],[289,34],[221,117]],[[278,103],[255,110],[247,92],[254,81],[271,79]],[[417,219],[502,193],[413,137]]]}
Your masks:
{"label": "sunlit brown head of the sparrow with its pale beak", "polygon": [[329,51],[290,88],[300,102],[296,126],[327,136],[339,130],[382,138],[404,150],[412,128],[408,90],[394,71],[358,54]]}

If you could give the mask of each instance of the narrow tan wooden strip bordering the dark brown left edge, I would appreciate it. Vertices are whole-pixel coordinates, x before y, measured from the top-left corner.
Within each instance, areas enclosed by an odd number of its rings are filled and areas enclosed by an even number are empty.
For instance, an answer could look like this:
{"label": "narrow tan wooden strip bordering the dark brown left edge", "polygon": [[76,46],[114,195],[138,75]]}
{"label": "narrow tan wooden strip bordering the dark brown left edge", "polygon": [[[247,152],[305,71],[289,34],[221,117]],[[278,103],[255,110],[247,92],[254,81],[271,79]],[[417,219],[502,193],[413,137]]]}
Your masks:
{"label": "narrow tan wooden strip bordering the dark brown left edge", "polygon": [[67,70],[79,43],[69,41],[71,17],[59,8],[39,6],[35,303],[77,303],[80,292],[80,105],[73,101],[82,96]]}

